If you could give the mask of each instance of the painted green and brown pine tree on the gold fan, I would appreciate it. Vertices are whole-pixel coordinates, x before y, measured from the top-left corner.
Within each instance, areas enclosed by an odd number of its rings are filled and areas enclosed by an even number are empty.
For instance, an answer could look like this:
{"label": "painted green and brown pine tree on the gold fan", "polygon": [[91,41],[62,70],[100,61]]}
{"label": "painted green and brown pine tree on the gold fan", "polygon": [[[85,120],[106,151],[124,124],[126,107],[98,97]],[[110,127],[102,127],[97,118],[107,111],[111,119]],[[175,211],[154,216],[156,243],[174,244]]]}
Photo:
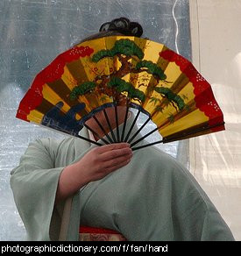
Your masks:
{"label": "painted green and brown pine tree on the gold fan", "polygon": [[[96,75],[93,82],[83,82],[76,86],[71,94],[71,99],[76,99],[85,94],[98,92],[107,96],[113,97],[114,101],[121,104],[122,98],[126,98],[124,93],[127,93],[127,100],[138,100],[140,103],[151,100],[153,102],[152,91],[155,90],[161,96],[166,98],[169,103],[172,103],[178,110],[183,110],[185,103],[181,96],[175,94],[171,89],[158,87],[159,81],[165,81],[167,75],[155,63],[150,60],[143,60],[143,51],[130,39],[119,39],[110,50],[101,50],[92,56],[93,62],[103,60],[103,58],[117,57],[121,63],[118,70],[113,71],[110,75]],[[138,58],[135,67],[131,65],[131,58]],[[124,76],[128,74],[140,74],[146,72],[155,79],[154,84],[147,88],[147,93],[144,94],[140,89],[136,89],[131,82],[125,82]],[[125,102],[125,101],[123,101]],[[161,103],[163,104],[163,103]],[[167,104],[166,104],[167,105]],[[157,110],[160,109],[157,108]]]}

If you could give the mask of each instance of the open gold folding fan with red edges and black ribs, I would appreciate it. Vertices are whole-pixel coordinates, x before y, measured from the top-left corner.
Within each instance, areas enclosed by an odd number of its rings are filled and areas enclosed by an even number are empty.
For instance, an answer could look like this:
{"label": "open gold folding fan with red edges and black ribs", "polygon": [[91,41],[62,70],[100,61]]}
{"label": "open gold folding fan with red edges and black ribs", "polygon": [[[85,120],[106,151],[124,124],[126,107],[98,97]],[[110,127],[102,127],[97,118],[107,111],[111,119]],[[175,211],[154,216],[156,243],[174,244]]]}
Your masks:
{"label": "open gold folding fan with red edges and black ribs", "polygon": [[[130,108],[138,110],[129,131],[117,136],[106,108],[126,105],[124,128]],[[224,130],[223,113],[212,89],[194,66],[181,55],[149,39],[111,36],[92,39],[61,53],[32,82],[18,107],[17,117],[82,138],[85,122],[103,110],[110,127],[105,144],[127,141],[131,147],[159,131],[160,142]],[[157,127],[135,141],[131,134],[140,112]],[[117,118],[116,118],[117,120]],[[91,132],[95,132],[91,130]],[[86,139],[96,145],[99,142]]]}

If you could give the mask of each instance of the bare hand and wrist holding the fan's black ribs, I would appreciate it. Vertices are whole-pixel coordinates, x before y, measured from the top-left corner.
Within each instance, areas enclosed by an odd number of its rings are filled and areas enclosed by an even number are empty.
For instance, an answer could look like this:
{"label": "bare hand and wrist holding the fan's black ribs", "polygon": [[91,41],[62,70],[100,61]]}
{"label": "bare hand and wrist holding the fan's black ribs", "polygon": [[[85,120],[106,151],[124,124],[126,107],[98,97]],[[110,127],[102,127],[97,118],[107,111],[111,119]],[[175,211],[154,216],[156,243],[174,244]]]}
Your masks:
{"label": "bare hand and wrist holding the fan's black ribs", "polygon": [[132,152],[127,143],[95,147],[81,160],[64,168],[60,174],[56,201],[73,195],[90,181],[103,179],[107,174],[131,161]]}

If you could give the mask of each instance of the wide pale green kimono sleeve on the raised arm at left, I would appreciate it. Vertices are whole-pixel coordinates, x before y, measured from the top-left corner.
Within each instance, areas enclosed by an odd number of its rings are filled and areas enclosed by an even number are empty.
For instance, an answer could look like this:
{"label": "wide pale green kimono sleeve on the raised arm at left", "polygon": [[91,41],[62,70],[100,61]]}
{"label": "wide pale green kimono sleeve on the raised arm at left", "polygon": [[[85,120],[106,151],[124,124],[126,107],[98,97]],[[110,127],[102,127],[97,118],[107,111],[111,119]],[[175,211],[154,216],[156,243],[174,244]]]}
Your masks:
{"label": "wide pale green kimono sleeve on the raised arm at left", "polygon": [[11,189],[28,240],[50,240],[56,190],[64,167],[54,167],[50,139],[29,145],[11,171]]}

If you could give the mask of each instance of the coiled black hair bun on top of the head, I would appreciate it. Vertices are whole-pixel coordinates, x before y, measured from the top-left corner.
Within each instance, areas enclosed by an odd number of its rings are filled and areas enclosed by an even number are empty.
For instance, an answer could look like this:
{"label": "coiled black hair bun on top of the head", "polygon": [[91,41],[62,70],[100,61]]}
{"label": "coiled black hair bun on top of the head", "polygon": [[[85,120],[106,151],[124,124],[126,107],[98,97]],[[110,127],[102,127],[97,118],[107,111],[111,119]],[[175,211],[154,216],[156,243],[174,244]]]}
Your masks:
{"label": "coiled black hair bun on top of the head", "polygon": [[127,36],[141,37],[143,33],[142,26],[137,22],[131,22],[128,18],[115,18],[106,22],[100,27],[100,32],[116,31]]}

